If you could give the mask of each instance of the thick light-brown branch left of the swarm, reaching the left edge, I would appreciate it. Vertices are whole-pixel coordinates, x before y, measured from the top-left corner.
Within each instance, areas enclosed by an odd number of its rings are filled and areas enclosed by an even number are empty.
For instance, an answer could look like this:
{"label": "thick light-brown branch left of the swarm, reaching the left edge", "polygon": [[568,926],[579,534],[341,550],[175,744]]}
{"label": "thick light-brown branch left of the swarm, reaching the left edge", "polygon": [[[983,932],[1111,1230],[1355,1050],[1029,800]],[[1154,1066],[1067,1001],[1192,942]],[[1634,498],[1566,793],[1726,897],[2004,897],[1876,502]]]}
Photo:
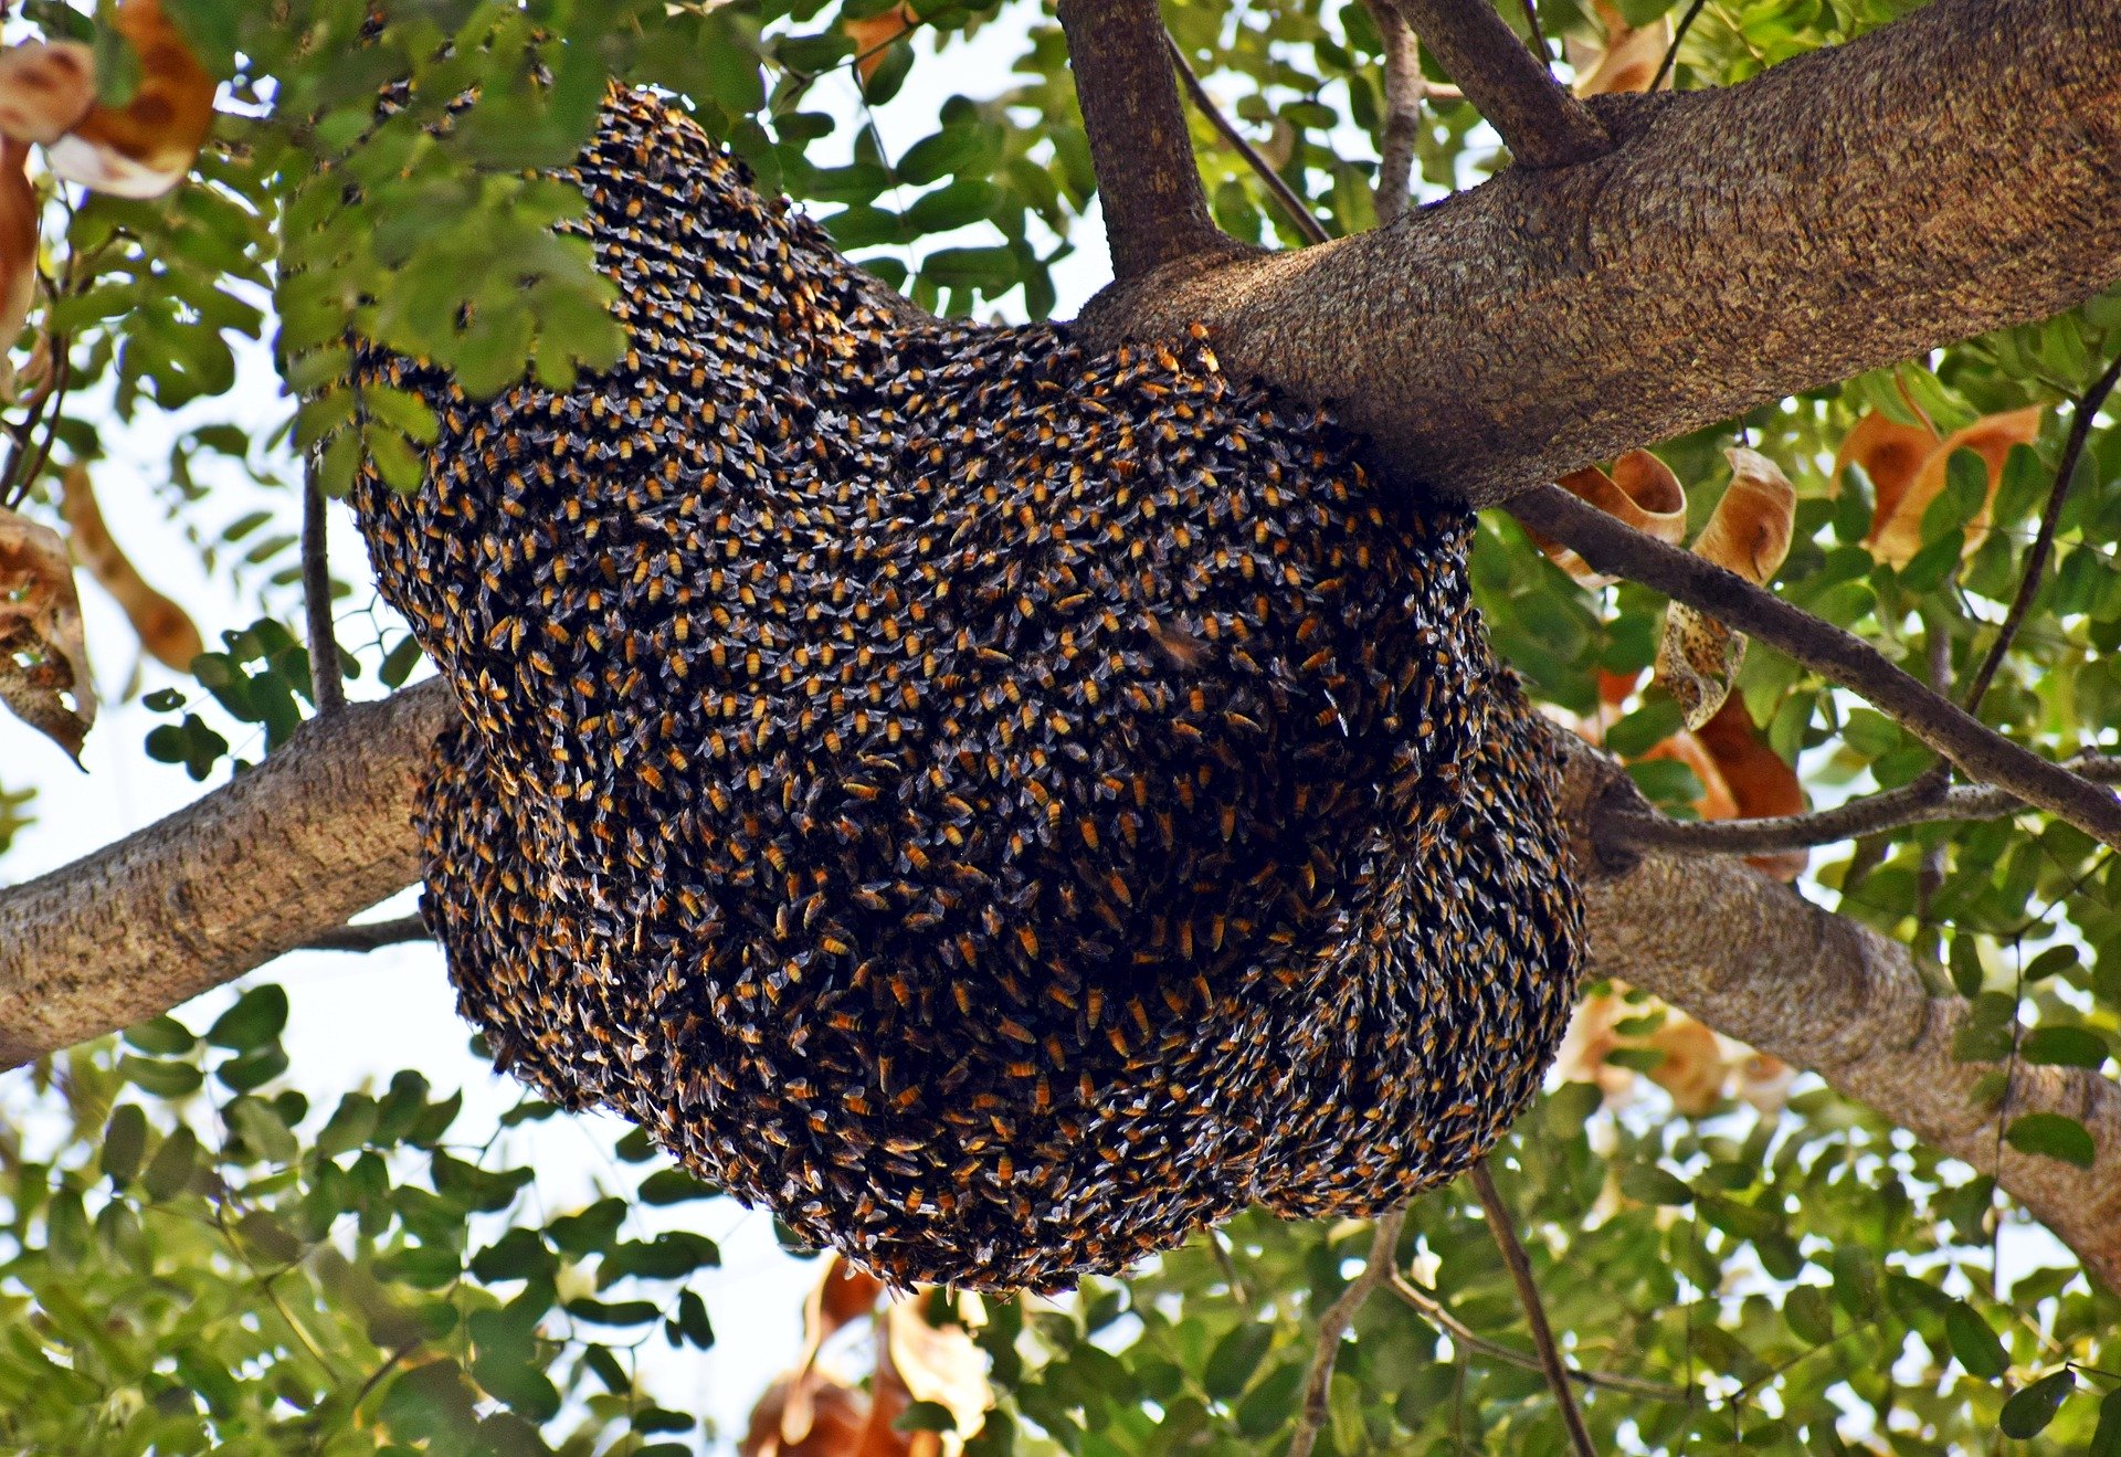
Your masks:
{"label": "thick light-brown branch left of the swarm, reaching the left edge", "polygon": [[420,872],[441,683],[346,708],[189,810],[0,893],[0,1069],[295,950]]}

